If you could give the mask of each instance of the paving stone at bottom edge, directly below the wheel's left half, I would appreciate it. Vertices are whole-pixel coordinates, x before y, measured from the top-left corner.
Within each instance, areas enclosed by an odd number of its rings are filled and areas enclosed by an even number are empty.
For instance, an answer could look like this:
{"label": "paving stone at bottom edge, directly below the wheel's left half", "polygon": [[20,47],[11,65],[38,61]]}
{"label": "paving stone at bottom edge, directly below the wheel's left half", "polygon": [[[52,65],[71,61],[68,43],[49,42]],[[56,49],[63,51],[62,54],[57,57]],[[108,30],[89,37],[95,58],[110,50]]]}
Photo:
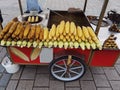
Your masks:
{"label": "paving stone at bottom edge, directly below the wheel's left half", "polygon": [[64,82],[50,80],[49,90],[64,90]]}

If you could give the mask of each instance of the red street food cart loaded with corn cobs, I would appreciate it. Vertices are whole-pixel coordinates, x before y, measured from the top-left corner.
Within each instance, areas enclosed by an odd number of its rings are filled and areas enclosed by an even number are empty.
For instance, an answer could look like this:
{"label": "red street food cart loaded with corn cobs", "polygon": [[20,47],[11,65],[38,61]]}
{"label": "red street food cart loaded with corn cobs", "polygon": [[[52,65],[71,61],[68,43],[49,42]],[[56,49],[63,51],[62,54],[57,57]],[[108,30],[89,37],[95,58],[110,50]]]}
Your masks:
{"label": "red street food cart loaded with corn cobs", "polygon": [[0,44],[14,64],[49,65],[50,74],[61,81],[81,78],[87,66],[114,66],[120,54],[120,34],[111,34],[108,27],[100,29],[109,0],[104,0],[95,32],[84,14],[87,0],[83,10],[48,9],[36,16],[23,14],[18,1],[21,15],[0,34]]}

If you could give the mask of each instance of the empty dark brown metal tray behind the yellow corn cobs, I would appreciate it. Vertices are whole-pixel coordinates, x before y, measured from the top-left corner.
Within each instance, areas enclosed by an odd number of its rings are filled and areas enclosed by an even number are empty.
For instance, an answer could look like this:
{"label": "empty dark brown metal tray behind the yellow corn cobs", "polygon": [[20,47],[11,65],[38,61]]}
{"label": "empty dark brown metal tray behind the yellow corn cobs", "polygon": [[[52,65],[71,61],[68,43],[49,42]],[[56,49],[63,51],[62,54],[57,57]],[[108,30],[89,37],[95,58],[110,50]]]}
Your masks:
{"label": "empty dark brown metal tray behind the yellow corn cobs", "polygon": [[73,21],[79,26],[91,26],[85,14],[80,12],[68,12],[68,11],[53,11],[50,10],[48,28],[51,28],[52,24],[58,25],[60,21]]}

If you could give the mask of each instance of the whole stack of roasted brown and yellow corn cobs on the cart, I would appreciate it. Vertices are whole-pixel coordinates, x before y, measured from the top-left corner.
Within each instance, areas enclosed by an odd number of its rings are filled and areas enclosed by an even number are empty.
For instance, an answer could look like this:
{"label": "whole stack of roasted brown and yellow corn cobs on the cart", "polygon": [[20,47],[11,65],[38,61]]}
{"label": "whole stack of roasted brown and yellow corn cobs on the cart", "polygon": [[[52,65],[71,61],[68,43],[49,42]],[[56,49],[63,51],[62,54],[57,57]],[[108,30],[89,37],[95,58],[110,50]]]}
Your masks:
{"label": "whole stack of roasted brown and yellow corn cobs on the cart", "polygon": [[0,45],[18,47],[59,47],[102,49],[100,41],[91,27],[76,26],[74,22],[62,20],[50,29],[11,21],[0,32]]}

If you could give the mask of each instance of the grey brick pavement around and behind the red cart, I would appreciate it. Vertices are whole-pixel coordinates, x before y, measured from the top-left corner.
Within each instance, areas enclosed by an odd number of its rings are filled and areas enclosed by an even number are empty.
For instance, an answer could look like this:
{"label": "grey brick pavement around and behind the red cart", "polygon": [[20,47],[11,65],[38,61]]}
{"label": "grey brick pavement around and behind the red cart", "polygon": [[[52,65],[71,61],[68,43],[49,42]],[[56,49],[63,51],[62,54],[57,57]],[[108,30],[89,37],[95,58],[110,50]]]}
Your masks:
{"label": "grey brick pavement around and behind the red cart", "polygon": [[[84,0],[41,1],[45,4],[42,8],[49,7],[59,10],[66,10],[71,6],[82,8],[83,4],[78,3],[78,1],[84,2]],[[6,4],[8,2],[9,4]],[[102,2],[103,0],[88,0],[86,14],[99,15]],[[120,1],[110,0],[107,11],[110,9],[120,11],[120,4],[118,2]],[[6,25],[7,21],[20,14],[18,12],[17,0],[0,0],[0,8],[3,13],[8,14],[3,16],[3,25]],[[0,62],[5,56],[6,49],[0,47]],[[8,74],[2,65],[0,65],[0,90],[120,90],[120,58],[114,67],[88,68],[86,74],[81,79],[73,82],[60,82],[54,79],[49,74],[47,66],[21,66],[19,72]]]}

